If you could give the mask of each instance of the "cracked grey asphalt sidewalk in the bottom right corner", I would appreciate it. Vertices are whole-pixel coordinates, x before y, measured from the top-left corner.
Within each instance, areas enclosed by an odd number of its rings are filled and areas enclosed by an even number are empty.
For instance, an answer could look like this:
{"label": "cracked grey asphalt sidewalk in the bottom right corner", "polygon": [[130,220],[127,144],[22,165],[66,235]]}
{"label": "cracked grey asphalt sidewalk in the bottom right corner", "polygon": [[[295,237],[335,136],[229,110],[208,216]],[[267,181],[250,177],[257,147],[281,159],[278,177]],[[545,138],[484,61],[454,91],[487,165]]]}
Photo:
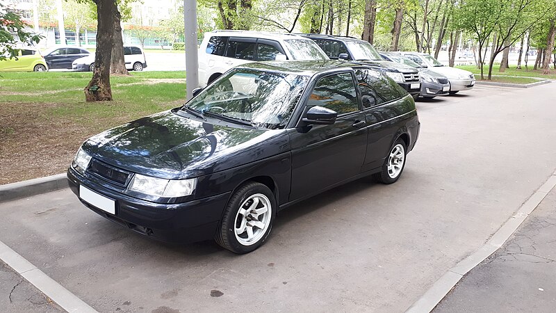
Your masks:
{"label": "cracked grey asphalt sidewalk in the bottom right corner", "polygon": [[556,188],[433,312],[555,312]]}

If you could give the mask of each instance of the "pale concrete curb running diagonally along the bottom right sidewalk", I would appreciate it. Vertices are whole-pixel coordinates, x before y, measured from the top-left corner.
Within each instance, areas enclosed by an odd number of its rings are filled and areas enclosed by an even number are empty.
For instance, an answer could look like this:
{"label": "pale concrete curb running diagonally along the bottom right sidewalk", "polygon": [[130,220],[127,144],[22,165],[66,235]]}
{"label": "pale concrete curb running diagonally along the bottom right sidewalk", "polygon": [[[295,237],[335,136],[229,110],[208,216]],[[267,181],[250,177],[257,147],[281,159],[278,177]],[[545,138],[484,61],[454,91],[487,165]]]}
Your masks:
{"label": "pale concrete curb running diagonally along the bottom right sidewalk", "polygon": [[521,225],[532,211],[537,208],[554,186],[556,186],[556,172],[550,175],[550,177],[546,179],[546,182],[544,182],[525,203],[521,204],[516,214],[507,219],[481,248],[446,271],[439,280],[436,280],[436,282],[432,284],[432,287],[425,291],[423,296],[420,296],[420,298],[406,310],[406,313],[423,313],[434,310],[434,307],[440,303],[464,275],[502,247],[507,239],[514,234],[519,225]]}

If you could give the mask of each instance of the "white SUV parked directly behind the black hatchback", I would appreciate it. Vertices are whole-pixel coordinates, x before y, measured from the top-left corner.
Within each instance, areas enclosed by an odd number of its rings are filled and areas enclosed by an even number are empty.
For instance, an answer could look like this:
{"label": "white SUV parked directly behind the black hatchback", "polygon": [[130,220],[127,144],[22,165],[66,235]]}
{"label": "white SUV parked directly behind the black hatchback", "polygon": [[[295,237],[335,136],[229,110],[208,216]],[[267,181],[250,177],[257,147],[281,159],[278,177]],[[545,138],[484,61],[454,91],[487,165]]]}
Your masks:
{"label": "white SUV parked directly behind the black hatchback", "polygon": [[199,47],[199,85],[205,87],[237,65],[274,60],[328,60],[328,56],[313,40],[289,33],[205,33]]}

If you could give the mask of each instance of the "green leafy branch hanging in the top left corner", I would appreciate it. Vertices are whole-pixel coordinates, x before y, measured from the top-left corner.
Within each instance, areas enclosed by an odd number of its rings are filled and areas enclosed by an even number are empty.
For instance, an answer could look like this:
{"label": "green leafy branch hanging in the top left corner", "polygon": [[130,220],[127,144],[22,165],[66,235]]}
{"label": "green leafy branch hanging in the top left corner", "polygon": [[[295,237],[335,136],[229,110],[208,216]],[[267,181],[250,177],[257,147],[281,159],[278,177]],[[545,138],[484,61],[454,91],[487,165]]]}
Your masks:
{"label": "green leafy branch hanging in the top left corner", "polygon": [[[15,34],[15,35],[14,35]],[[0,3],[0,61],[6,58],[15,58],[17,55],[17,41],[25,45],[34,45],[40,42],[41,35],[25,31],[25,23],[14,12],[6,10]]]}

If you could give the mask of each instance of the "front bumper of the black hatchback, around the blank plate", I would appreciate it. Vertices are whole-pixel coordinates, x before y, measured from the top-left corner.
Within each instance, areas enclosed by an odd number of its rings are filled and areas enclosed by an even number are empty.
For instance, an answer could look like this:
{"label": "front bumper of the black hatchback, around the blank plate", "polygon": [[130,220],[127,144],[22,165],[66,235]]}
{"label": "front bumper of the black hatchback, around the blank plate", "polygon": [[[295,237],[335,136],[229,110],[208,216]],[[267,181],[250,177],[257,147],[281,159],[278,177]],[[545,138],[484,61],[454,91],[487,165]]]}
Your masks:
{"label": "front bumper of the black hatchback, around the blank plate", "polygon": [[108,189],[84,177],[72,168],[67,170],[67,181],[79,198],[79,186],[115,200],[115,214],[81,200],[95,213],[119,225],[159,241],[190,243],[213,239],[230,192],[190,202],[161,204],[140,200]]}

